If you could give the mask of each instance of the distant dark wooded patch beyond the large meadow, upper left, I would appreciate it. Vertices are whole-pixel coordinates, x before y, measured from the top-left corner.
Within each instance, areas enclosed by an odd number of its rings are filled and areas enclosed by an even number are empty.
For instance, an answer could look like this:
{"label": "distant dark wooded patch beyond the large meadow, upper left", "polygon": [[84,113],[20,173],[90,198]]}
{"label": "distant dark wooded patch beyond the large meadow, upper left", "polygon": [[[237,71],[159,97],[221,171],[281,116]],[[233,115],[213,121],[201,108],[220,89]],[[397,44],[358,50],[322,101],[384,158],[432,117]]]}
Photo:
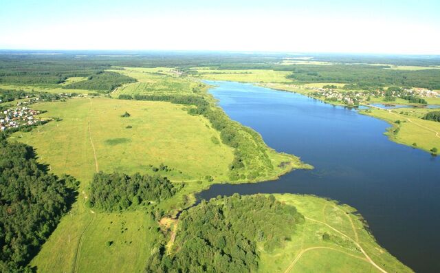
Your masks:
{"label": "distant dark wooded patch beyond the large meadow, upper left", "polygon": [[63,88],[98,90],[107,93],[116,87],[120,87],[124,83],[134,83],[135,81],[134,78],[120,73],[99,71],[96,72],[96,74],[89,76],[87,80],[70,83],[69,85],[64,85]]}

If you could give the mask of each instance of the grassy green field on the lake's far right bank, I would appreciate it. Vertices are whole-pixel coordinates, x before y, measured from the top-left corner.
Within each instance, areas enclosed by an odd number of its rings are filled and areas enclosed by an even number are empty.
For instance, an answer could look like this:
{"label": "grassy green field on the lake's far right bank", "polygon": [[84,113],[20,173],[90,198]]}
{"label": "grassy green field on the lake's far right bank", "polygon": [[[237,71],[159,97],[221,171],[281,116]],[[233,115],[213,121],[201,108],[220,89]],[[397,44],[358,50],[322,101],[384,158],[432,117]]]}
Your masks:
{"label": "grassy green field on the lake's far right bank", "polygon": [[[391,111],[372,109],[360,111],[367,116],[380,118],[392,127],[386,131],[390,140],[430,152],[433,147],[440,147],[440,122],[422,120],[421,116],[427,109],[393,109]],[[434,111],[434,109],[430,109]],[[404,114],[401,114],[404,113]],[[399,124],[395,121],[400,120]],[[397,133],[395,130],[399,128]],[[417,146],[412,145],[416,143]]]}

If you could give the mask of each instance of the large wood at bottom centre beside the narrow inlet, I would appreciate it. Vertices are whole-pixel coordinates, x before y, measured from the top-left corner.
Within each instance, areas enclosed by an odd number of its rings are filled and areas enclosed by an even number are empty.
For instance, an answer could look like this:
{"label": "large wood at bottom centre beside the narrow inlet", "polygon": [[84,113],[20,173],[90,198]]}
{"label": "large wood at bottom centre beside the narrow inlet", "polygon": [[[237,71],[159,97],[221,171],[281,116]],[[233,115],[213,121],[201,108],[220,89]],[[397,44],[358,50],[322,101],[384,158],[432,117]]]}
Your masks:
{"label": "large wood at bottom centre beside the narrow inlet", "polygon": [[256,272],[265,251],[291,239],[304,217],[271,195],[218,197],[181,213],[170,255],[159,243],[146,272]]}

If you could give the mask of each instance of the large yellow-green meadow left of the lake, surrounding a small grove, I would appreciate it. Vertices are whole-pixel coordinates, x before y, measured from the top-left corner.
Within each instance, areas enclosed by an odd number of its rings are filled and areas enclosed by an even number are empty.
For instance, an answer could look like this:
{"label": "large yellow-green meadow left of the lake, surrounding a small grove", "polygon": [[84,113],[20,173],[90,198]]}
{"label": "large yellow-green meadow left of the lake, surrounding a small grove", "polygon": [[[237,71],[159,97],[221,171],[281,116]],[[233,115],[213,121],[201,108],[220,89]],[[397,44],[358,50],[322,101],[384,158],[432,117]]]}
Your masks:
{"label": "large yellow-green meadow left of the lake, surrounding a small grove", "polygon": [[[230,147],[212,142],[219,133],[208,120],[190,116],[182,105],[169,102],[80,98],[44,102],[34,109],[61,118],[29,133],[14,133],[36,149],[39,162],[57,175],[80,180],[78,201],[65,215],[31,265],[39,272],[140,272],[153,248],[157,231],[144,210],[103,213],[87,206],[88,186],[96,171],[153,173],[150,164],[166,164],[160,172],[172,181],[186,181],[164,206],[180,206],[184,195],[228,177]],[[128,111],[131,116],[122,118]],[[126,128],[131,126],[131,128]],[[203,180],[203,181],[202,181]],[[183,205],[182,205],[183,206]],[[123,232],[122,232],[123,231]],[[107,241],[113,241],[107,246]]]}

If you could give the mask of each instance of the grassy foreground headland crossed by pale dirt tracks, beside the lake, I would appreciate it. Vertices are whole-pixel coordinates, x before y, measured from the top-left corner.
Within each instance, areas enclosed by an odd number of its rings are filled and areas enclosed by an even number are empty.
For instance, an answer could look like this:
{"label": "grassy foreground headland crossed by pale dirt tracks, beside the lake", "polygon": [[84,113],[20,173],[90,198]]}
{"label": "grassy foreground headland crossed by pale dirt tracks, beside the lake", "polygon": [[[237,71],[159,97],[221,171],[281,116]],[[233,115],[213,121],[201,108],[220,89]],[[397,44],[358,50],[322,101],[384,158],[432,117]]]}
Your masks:
{"label": "grassy foreground headland crossed by pale dirt tracks, beside the lake", "polygon": [[285,248],[261,253],[260,272],[412,272],[375,242],[354,208],[311,195],[274,196],[295,206],[305,223]]}

